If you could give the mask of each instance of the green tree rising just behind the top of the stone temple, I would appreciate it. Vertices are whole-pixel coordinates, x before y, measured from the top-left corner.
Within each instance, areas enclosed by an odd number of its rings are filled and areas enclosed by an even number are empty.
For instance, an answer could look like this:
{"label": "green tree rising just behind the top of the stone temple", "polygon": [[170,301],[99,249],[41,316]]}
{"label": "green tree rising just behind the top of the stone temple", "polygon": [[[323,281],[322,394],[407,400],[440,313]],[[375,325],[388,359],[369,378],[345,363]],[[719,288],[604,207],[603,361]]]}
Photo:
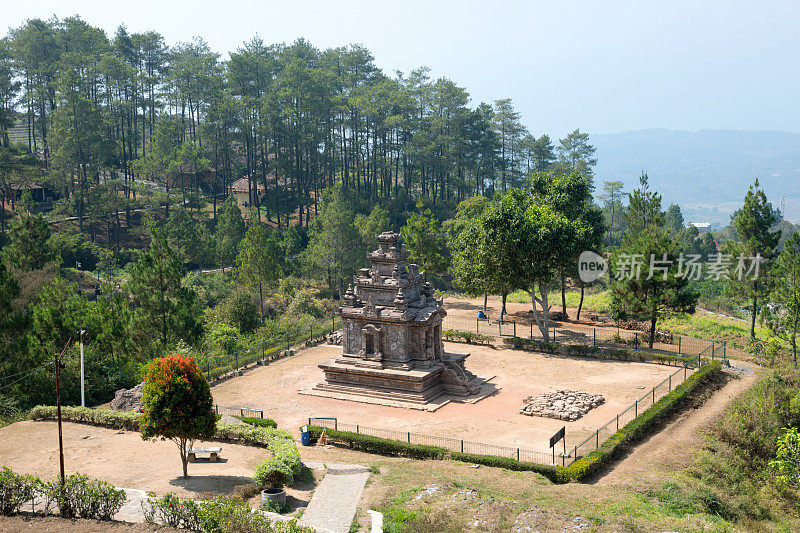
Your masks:
{"label": "green tree rising just behind the top of the stone temple", "polygon": [[411,260],[419,264],[426,279],[444,274],[448,263],[445,235],[430,209],[418,203],[417,212],[408,218],[400,233],[411,252]]}

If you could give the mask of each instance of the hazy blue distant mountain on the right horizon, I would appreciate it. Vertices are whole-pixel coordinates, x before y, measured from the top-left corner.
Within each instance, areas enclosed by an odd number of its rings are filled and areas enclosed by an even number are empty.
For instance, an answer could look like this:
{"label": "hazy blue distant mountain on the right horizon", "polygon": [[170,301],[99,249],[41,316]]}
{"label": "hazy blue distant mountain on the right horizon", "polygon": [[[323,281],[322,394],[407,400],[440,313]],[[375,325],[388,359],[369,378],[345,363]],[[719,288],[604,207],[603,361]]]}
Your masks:
{"label": "hazy blue distant mountain on the right horizon", "polygon": [[800,134],[783,131],[664,129],[591,135],[597,147],[595,184],[621,180],[626,192],[642,171],[666,207],[681,206],[689,221],[725,225],[755,178],[785,218],[800,219]]}

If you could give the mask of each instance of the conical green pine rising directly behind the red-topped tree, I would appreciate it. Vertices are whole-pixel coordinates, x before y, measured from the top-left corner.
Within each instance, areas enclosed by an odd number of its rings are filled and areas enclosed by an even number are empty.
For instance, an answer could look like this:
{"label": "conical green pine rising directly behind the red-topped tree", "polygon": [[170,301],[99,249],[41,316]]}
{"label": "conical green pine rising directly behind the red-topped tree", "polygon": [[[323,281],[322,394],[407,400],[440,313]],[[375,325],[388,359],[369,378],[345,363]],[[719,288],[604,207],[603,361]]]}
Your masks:
{"label": "conical green pine rising directly behind the red-topped tree", "polygon": [[136,305],[139,331],[161,338],[193,342],[199,336],[195,294],[183,287],[184,270],[178,254],[160,233],[153,233],[150,248],[139,254],[130,273],[129,289]]}

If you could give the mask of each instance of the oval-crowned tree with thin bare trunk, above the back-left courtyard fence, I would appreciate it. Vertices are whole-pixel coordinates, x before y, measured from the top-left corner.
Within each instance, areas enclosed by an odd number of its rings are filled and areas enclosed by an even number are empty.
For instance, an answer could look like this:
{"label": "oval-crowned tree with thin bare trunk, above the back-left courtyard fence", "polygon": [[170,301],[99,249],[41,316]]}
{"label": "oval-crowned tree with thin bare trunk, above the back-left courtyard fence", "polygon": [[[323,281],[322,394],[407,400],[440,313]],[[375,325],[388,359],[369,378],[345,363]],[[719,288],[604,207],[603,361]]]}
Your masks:
{"label": "oval-crowned tree with thin bare trunk, above the back-left courtyard fence", "polygon": [[281,277],[283,255],[274,233],[259,223],[248,228],[236,256],[236,276],[249,287],[258,287],[259,310],[264,321],[264,285],[273,286]]}

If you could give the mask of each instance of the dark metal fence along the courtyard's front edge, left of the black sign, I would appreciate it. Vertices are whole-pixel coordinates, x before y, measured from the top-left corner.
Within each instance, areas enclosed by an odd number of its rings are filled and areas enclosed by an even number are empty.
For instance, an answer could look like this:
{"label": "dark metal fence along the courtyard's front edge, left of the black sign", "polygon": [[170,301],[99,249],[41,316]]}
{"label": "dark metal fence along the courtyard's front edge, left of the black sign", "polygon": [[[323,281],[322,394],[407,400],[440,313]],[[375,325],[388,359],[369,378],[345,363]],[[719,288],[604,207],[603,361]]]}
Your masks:
{"label": "dark metal fence along the courtyard's front edge, left of the black sign", "polygon": [[[517,461],[528,463],[539,463],[544,465],[553,464],[553,456],[548,452],[530,450],[527,448],[515,448],[511,446],[501,446],[499,444],[487,444],[485,442],[475,442],[464,439],[454,439],[451,437],[437,437],[434,435],[422,435],[412,431],[398,431],[394,429],[379,429],[361,424],[339,422],[337,418],[331,417],[312,417],[308,419],[309,426],[318,426],[338,431],[349,431],[359,435],[369,435],[382,439],[390,439],[409,444],[422,444],[426,446],[438,446],[453,452],[471,453],[476,455],[495,455],[499,457],[509,457]],[[561,454],[559,454],[560,456]],[[558,458],[559,464],[567,464],[565,457]]]}

